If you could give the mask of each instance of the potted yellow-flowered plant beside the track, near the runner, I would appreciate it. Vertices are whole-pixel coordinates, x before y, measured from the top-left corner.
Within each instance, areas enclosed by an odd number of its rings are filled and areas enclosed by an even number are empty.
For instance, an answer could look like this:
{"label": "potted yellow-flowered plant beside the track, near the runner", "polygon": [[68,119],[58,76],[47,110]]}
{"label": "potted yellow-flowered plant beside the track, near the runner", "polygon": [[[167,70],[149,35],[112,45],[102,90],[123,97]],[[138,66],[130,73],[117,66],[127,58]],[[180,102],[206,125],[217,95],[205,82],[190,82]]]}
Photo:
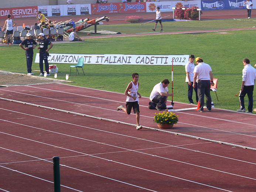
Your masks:
{"label": "potted yellow-flowered plant beside the track, near the runner", "polygon": [[178,122],[178,115],[175,116],[173,112],[160,112],[155,113],[154,122],[157,123],[159,128],[171,128]]}

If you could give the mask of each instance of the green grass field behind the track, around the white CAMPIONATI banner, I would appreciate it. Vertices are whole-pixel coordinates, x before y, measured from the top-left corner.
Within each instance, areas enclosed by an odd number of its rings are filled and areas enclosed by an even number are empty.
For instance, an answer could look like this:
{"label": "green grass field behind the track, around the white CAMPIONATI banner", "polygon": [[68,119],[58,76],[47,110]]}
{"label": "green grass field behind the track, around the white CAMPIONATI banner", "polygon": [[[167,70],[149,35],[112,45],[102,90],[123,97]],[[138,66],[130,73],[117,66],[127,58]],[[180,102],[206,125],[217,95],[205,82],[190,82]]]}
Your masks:
{"label": "green grass field behind the track, around the white CAMPIONATI banner", "polygon": [[[223,28],[248,28],[256,25],[250,20],[208,20],[164,22],[164,31],[194,31]],[[100,25],[100,30],[118,31],[121,33],[151,32],[153,23]],[[157,26],[158,28],[160,26]],[[253,29],[253,28],[252,28]],[[256,64],[255,58],[255,30],[237,30],[223,32],[207,32],[193,34],[166,34],[136,37],[97,38],[86,39],[85,42],[55,44],[50,53],[74,54],[194,54],[200,56],[205,63],[211,65],[215,78],[218,78],[218,97],[211,92],[215,107],[223,109],[239,109],[238,97],[242,83],[243,58],[249,58],[251,64]],[[79,34],[82,36],[82,33]],[[18,73],[26,72],[24,51],[19,46],[0,46],[0,70]],[[35,50],[34,53],[38,53]],[[70,64],[57,64],[58,79],[65,79],[69,73]],[[39,64],[33,64],[38,70]],[[171,66],[150,65],[85,65],[86,75],[73,76],[69,80],[72,85],[88,88],[124,92],[127,84],[132,80],[132,73],[140,75],[139,92],[142,96],[149,96],[153,86],[167,78],[171,80]],[[39,72],[35,72],[39,75]],[[53,75],[47,78],[54,78]],[[169,86],[171,87],[171,86]],[[195,97],[195,96],[194,96]],[[170,99],[170,98],[169,98]],[[194,98],[195,100],[195,98]],[[174,101],[188,103],[187,84],[185,83],[185,67],[174,66]],[[254,100],[255,103],[255,100]],[[245,99],[248,104],[248,98]],[[256,103],[254,104],[254,108]],[[174,106],[175,109],[175,106]]]}

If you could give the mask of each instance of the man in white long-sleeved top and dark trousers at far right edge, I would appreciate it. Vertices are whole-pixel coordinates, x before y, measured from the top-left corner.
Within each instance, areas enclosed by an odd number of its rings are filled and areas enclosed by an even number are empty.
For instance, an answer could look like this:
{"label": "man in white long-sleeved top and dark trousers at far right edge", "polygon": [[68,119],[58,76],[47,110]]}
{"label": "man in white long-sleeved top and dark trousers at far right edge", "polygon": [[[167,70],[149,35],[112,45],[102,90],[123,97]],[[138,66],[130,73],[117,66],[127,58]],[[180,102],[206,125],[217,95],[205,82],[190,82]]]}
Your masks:
{"label": "man in white long-sleeved top and dark trousers at far right edge", "polygon": [[247,113],[252,113],[252,106],[253,106],[253,89],[254,83],[256,78],[256,69],[250,65],[250,60],[248,58],[243,59],[243,75],[242,75],[242,86],[241,91],[239,93],[239,102],[240,102],[240,109],[239,112],[245,112],[245,100],[244,97],[248,95],[248,111]]}

